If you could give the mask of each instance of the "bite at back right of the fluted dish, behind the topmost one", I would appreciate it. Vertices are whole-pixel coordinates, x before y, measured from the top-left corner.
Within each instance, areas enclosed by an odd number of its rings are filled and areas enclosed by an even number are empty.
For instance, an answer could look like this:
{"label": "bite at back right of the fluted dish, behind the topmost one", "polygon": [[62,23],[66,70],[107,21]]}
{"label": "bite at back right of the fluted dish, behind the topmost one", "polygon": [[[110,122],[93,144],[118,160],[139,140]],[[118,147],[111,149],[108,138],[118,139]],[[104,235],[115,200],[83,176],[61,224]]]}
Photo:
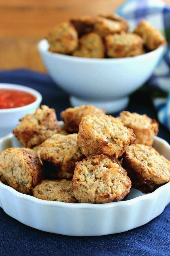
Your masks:
{"label": "bite at back right of the fluted dish, behind the topmost one", "polygon": [[158,123],[155,119],[128,111],[122,111],[118,118],[124,126],[133,129],[136,136],[135,143],[152,146],[154,137],[158,134]]}

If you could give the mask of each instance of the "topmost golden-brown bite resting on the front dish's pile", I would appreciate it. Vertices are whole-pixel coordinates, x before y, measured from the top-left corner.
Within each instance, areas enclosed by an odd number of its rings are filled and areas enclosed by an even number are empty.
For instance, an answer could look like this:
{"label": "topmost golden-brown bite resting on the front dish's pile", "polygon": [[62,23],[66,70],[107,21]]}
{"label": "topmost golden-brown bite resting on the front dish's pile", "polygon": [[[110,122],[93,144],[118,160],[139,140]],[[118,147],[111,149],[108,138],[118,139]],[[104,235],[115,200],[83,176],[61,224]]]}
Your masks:
{"label": "topmost golden-brown bite resting on the front dish's pile", "polygon": [[104,154],[120,158],[134,141],[132,129],[111,115],[87,115],[81,119],[78,144],[86,157]]}

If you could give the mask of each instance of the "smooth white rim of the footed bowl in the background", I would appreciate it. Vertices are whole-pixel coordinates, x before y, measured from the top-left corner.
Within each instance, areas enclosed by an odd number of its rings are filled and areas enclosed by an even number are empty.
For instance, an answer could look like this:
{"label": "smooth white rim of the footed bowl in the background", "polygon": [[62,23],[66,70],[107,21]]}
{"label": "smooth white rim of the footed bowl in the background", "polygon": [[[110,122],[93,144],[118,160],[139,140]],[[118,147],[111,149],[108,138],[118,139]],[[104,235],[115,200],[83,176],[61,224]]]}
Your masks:
{"label": "smooth white rim of the footed bowl in the background", "polygon": [[53,56],[59,59],[65,59],[65,60],[72,60],[72,61],[80,61],[80,62],[122,62],[122,61],[129,61],[129,60],[134,60],[136,61],[137,59],[141,59],[141,58],[151,58],[152,55],[154,54],[160,54],[163,53],[166,49],[167,46],[166,45],[161,45],[159,46],[157,49],[147,52],[147,53],[143,53],[141,55],[137,55],[137,56],[132,56],[132,57],[123,57],[123,58],[85,58],[85,57],[76,57],[76,56],[72,56],[72,55],[66,55],[66,54],[61,54],[61,53],[55,53],[55,52],[51,52],[48,50],[48,42],[46,39],[42,39],[41,41],[38,42],[37,44],[37,48],[39,50],[39,52],[44,52],[49,56]]}

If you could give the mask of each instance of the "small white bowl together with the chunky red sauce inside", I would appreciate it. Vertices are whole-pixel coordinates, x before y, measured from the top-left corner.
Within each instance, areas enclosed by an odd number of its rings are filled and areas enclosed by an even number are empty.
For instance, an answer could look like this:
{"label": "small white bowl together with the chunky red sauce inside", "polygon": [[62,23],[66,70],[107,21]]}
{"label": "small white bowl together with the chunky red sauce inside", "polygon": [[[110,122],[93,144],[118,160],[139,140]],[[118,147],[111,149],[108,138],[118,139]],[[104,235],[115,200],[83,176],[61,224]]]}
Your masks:
{"label": "small white bowl together with the chunky red sauce inside", "polygon": [[41,101],[41,94],[32,88],[0,83],[0,137],[12,132],[23,116],[35,112]]}

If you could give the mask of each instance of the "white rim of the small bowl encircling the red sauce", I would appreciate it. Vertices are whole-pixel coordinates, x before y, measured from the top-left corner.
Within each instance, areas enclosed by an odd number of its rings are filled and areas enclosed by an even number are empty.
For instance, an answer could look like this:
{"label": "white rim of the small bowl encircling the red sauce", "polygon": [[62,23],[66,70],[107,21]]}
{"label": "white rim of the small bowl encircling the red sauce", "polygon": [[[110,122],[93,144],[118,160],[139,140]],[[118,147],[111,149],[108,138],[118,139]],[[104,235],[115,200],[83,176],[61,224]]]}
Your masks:
{"label": "white rim of the small bowl encircling the red sauce", "polygon": [[36,100],[32,102],[31,104],[25,105],[23,107],[17,107],[17,108],[4,108],[0,109],[0,113],[7,113],[7,112],[17,112],[20,110],[26,110],[28,108],[32,108],[37,104],[40,104],[42,101],[42,95],[37,90],[34,90],[30,87],[19,85],[19,84],[6,84],[6,83],[0,83],[0,89],[11,89],[11,90],[19,90],[23,92],[29,92],[33,96],[36,97]]}

